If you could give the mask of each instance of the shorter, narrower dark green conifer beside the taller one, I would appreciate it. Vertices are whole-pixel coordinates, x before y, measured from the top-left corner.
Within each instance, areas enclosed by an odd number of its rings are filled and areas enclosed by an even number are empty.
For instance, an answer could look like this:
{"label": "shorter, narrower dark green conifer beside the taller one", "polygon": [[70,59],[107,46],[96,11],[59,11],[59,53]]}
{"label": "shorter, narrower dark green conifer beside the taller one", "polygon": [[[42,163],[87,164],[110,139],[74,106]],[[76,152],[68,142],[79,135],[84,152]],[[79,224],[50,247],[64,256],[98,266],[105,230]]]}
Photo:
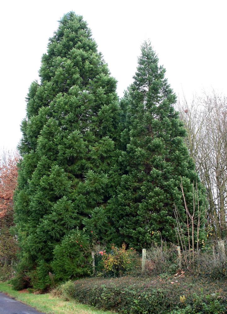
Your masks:
{"label": "shorter, narrower dark green conifer beside the taller one", "polygon": [[[124,171],[108,206],[110,221],[121,238],[136,248],[152,240],[176,242],[174,208],[186,220],[181,177],[189,210],[193,211],[193,183],[198,202],[205,206],[195,165],[184,143],[185,129],[174,111],[176,96],[158,65],[158,57],[144,43],[134,82],[122,100],[127,107],[119,161]],[[195,201],[197,206],[197,200]],[[116,239],[117,239],[116,238]]]}

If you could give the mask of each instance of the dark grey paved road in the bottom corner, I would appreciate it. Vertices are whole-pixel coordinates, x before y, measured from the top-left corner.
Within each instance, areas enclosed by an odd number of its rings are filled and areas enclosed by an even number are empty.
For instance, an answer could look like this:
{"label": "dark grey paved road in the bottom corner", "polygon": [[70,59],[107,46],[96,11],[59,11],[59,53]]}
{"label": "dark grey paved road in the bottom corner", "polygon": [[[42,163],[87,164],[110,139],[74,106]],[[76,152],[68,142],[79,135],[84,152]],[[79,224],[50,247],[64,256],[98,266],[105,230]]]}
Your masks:
{"label": "dark grey paved road in the bottom corner", "polygon": [[16,301],[4,293],[0,293],[0,314],[44,314],[33,307]]}

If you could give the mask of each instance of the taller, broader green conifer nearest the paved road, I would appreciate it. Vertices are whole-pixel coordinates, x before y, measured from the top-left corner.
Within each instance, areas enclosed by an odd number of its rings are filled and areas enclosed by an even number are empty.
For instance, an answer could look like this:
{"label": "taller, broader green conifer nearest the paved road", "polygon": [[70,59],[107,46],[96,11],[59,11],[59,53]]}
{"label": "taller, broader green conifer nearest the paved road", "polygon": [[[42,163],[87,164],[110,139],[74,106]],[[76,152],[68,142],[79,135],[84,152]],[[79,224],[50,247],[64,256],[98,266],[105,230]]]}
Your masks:
{"label": "taller, broader green conifer nearest the paved road", "polygon": [[[17,288],[30,279],[44,288],[48,272],[55,272],[53,252],[61,252],[61,241],[65,247],[69,233],[81,230],[115,190],[120,117],[115,90],[86,22],[72,12],[64,15],[42,57],[40,83],[30,86],[21,126]],[[70,276],[70,269],[65,273]]]}

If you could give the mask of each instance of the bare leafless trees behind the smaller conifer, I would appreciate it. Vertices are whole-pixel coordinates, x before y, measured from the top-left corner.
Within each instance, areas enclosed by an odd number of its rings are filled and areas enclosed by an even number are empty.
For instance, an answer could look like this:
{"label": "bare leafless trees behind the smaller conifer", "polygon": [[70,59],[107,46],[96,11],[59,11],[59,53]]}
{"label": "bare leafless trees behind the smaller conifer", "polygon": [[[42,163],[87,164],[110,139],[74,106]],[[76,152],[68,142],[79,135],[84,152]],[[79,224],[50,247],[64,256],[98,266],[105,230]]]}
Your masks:
{"label": "bare leafless trees behind the smaller conifer", "polygon": [[177,109],[187,130],[185,139],[202,183],[207,189],[208,223],[215,236],[227,236],[227,98],[204,93]]}

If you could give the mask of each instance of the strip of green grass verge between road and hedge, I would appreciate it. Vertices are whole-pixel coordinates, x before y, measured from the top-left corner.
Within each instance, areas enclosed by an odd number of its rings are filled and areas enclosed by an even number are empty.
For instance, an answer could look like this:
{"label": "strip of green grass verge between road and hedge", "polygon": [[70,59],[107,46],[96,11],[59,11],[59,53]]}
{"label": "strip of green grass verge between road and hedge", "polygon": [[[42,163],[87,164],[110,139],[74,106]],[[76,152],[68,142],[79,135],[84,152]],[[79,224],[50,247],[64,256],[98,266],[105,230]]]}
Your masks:
{"label": "strip of green grass verge between road and hedge", "polygon": [[[35,307],[38,311],[49,314],[107,314],[109,311],[100,311],[91,306],[77,303],[74,300],[65,301],[63,298],[53,296],[51,293],[33,294],[22,293],[13,290],[6,282],[0,282],[0,292],[6,293],[16,300],[29,306]],[[113,312],[112,312],[113,313]]]}

